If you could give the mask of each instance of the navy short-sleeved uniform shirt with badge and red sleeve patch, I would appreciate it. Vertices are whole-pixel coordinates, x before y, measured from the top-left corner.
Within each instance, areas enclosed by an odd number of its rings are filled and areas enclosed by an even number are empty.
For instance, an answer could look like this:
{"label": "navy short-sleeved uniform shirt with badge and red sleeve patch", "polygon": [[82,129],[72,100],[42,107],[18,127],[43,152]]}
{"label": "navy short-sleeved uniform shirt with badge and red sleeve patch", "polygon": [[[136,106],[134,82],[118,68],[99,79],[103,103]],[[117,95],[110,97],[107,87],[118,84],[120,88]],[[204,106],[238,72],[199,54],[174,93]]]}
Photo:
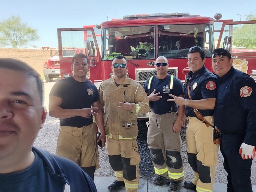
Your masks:
{"label": "navy short-sleeved uniform shirt with badge and red sleeve patch", "polygon": [[[208,69],[203,66],[201,69],[193,73],[190,71],[188,73],[188,79],[186,79],[186,82],[184,84],[184,95],[186,99],[189,99],[188,97],[188,80],[190,79],[189,84],[189,91],[192,100],[201,100],[201,99],[210,99],[210,98],[216,98],[217,89],[217,78],[213,75],[212,72],[210,72]],[[213,110],[207,109],[202,110],[198,109],[198,111],[202,114],[202,116],[212,116]],[[190,117],[196,117],[193,108],[186,106],[186,115]]]}

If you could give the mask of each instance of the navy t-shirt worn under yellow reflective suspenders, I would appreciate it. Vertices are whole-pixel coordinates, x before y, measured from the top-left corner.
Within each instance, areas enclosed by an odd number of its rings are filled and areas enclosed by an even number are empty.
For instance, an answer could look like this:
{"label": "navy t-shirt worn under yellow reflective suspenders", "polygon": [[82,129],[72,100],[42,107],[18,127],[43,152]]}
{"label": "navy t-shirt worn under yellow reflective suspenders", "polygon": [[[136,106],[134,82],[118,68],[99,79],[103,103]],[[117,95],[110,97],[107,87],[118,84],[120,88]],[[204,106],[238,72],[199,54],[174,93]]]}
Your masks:
{"label": "navy t-shirt worn under yellow reflective suspenders", "polygon": [[[164,79],[158,79],[156,76],[152,78],[150,93],[152,93],[154,89],[156,89],[155,93],[160,92],[158,96],[162,96],[162,98],[157,101],[150,101],[151,108],[155,114],[165,114],[170,111],[171,108],[173,112],[177,112],[178,106],[175,104],[175,102],[167,101],[167,99],[173,99],[171,96],[169,96],[170,93],[175,96],[182,95],[183,84],[180,79],[174,78],[173,88],[170,90],[170,78],[171,76],[169,74]],[[145,84],[143,85],[146,93],[148,93],[148,81],[149,79],[147,79]]]}

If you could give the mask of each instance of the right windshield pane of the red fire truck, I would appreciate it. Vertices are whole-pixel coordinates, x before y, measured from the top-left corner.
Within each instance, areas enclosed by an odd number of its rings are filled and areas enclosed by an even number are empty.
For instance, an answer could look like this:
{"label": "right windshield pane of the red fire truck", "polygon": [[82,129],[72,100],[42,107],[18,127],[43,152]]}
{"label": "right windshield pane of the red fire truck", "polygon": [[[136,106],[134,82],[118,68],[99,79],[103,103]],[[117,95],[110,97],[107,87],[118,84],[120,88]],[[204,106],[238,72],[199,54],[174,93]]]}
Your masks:
{"label": "right windshield pane of the red fire truck", "polygon": [[209,30],[212,30],[212,27],[209,28],[207,24],[157,26],[157,57],[184,58],[193,46],[201,47],[206,56],[210,57],[213,42]]}

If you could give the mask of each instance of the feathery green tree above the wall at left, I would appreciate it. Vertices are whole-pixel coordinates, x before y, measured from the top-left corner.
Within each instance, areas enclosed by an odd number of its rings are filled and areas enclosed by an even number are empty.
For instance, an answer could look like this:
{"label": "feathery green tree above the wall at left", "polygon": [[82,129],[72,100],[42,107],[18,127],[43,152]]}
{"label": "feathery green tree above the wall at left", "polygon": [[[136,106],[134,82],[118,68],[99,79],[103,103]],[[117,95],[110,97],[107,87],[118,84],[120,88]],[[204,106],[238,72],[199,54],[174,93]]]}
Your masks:
{"label": "feathery green tree above the wall at left", "polygon": [[11,16],[7,20],[0,22],[0,46],[11,46],[12,48],[19,49],[32,45],[31,42],[38,41],[37,29],[23,23],[19,16]]}

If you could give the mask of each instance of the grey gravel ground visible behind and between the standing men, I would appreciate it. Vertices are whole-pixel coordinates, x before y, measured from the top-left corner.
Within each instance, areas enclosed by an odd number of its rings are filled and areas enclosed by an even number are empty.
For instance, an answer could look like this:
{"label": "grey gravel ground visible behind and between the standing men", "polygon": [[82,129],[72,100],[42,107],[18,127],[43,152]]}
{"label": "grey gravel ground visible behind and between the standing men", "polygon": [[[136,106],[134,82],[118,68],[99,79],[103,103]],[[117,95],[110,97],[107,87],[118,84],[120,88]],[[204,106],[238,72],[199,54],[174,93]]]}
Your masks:
{"label": "grey gravel ground visible behind and between the standing men", "polygon": [[[56,82],[44,83],[44,105],[48,109],[48,95]],[[139,124],[139,136],[138,136],[138,145],[139,145],[139,153],[141,156],[140,162],[140,177],[142,179],[151,179],[154,176],[154,167],[150,159],[149,150],[147,147],[147,127],[144,120],[140,120]],[[36,141],[35,146],[45,149],[52,154],[56,154],[56,142],[59,133],[59,119],[50,117],[47,113],[46,121],[44,124],[44,128],[40,130]],[[193,170],[188,164],[188,157],[186,152],[186,138],[185,138],[185,130],[181,130],[181,138],[182,138],[182,155],[183,155],[183,166],[185,177],[184,180],[192,180],[193,178]],[[219,164],[216,167],[216,175],[215,182],[216,183],[227,183],[227,173],[223,168],[223,157],[219,151],[218,153]],[[106,147],[103,149],[99,148],[99,163],[100,168],[95,171],[95,176],[105,176],[105,177],[115,177],[115,173],[112,170],[109,162]],[[256,185],[256,163],[255,160],[252,162],[252,185]]]}

